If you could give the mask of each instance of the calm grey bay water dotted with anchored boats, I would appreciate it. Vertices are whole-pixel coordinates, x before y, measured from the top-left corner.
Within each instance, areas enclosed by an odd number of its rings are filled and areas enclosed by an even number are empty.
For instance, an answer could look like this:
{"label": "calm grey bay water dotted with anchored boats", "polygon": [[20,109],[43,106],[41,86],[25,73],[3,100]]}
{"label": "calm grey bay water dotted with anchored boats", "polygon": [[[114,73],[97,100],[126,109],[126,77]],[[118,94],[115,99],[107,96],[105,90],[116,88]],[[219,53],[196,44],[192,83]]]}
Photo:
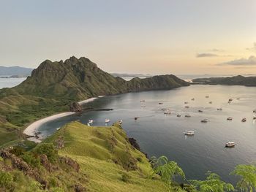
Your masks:
{"label": "calm grey bay water dotted with anchored boats", "polygon": [[[230,98],[233,102],[228,104]],[[145,103],[140,102],[143,99]],[[189,104],[184,104],[185,101]],[[188,179],[204,179],[205,173],[211,170],[224,180],[233,182],[234,177],[229,173],[237,164],[256,161],[256,123],[252,119],[252,111],[256,109],[256,88],[191,85],[170,91],[105,96],[89,105],[113,108],[113,111],[60,118],[45,123],[39,131],[49,135],[72,120],[87,123],[89,119],[94,119],[94,126],[105,126],[105,118],[110,118],[110,123],[122,119],[128,136],[137,139],[148,156],[166,155],[170,160],[177,161]],[[185,105],[189,105],[189,109]],[[223,110],[218,111],[218,107]],[[170,109],[172,114],[164,115],[162,108]],[[203,110],[203,113],[197,110]],[[178,113],[181,118],[176,117]],[[185,118],[186,114],[192,117]],[[140,118],[135,121],[135,116]],[[228,117],[233,117],[233,120],[227,121]],[[201,123],[204,118],[210,121]],[[241,118],[247,118],[247,121],[242,123]],[[195,136],[185,137],[184,131],[195,131]],[[226,142],[236,142],[237,145],[225,148]]]}

